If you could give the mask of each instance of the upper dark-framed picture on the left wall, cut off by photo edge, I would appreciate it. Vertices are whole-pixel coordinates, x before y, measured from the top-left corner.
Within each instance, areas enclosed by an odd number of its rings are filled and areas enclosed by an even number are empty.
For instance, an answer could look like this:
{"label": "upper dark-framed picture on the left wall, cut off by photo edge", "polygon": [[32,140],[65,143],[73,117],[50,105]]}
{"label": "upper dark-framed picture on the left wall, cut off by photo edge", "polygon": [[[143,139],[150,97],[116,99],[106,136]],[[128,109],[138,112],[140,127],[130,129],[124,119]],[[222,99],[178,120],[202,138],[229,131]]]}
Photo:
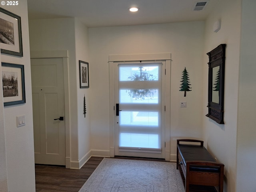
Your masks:
{"label": "upper dark-framed picture on the left wall, cut off by photo edge", "polygon": [[1,53],[23,56],[21,18],[0,8],[0,45]]}

